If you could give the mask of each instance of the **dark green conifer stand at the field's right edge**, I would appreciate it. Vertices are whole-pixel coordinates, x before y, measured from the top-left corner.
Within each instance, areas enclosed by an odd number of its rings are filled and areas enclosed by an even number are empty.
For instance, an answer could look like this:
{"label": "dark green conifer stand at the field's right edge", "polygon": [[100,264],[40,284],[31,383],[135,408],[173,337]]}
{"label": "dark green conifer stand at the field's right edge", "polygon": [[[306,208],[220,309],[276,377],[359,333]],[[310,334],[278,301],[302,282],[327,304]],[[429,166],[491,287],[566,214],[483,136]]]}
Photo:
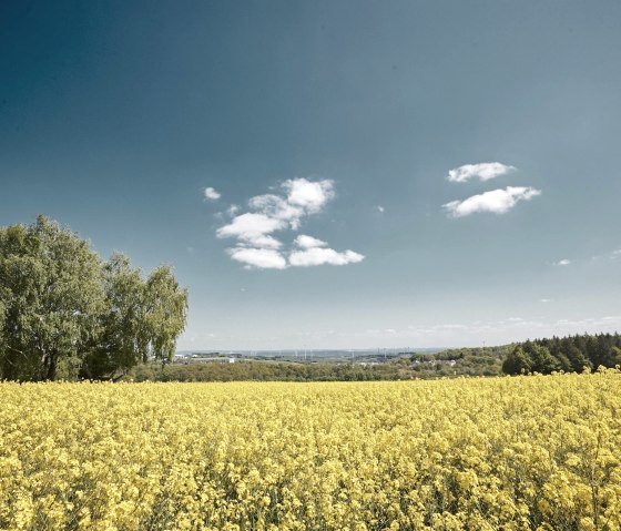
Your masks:
{"label": "dark green conifer stand at the field's right edge", "polygon": [[513,346],[502,364],[507,375],[553,371],[581,372],[621,365],[619,334],[577,335],[535,339]]}

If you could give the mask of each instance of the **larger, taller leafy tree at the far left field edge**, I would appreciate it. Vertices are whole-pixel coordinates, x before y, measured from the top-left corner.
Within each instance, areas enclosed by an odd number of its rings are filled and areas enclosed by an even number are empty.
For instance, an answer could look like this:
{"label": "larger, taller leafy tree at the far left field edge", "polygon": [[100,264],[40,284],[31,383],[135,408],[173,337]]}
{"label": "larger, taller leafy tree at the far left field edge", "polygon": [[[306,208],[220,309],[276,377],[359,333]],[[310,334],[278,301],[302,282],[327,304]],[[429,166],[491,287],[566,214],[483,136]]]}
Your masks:
{"label": "larger, taller leafy tree at the far left field edge", "polygon": [[75,374],[103,307],[90,243],[44,216],[0,227],[0,297],[2,378],[53,380],[59,366]]}

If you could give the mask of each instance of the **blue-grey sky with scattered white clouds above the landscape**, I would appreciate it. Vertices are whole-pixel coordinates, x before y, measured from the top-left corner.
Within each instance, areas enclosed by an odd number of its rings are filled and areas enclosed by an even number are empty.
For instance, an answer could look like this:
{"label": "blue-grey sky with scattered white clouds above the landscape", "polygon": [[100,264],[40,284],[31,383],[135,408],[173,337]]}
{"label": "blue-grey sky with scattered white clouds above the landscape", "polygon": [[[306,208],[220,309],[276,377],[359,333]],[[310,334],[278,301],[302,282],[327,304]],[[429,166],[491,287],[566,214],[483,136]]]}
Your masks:
{"label": "blue-grey sky with scattered white clouds above the landscape", "polygon": [[180,349],[621,331],[621,2],[0,3],[0,225],[171,264]]}

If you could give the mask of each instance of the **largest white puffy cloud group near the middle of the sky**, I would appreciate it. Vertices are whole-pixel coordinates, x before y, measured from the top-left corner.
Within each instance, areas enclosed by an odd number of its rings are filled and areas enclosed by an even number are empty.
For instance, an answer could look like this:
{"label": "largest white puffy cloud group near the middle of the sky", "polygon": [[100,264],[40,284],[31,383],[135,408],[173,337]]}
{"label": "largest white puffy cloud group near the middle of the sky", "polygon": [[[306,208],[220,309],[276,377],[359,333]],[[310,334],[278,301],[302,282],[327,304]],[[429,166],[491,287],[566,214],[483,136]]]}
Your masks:
{"label": "largest white puffy cloud group near the middle of the sky", "polygon": [[238,208],[228,210],[232,219],[216,229],[218,238],[236,238],[235,247],[228,248],[232,259],[245,264],[246,268],[286,269],[317,265],[346,265],[364,259],[354,251],[337,252],[327,243],[305,234],[298,235],[294,248],[283,251],[283,243],[274,233],[298,231],[306,217],[318,214],[334,198],[330,180],[308,181],[292,178],[281,185],[281,194],[263,194],[252,197],[247,206],[251,212],[237,214]]}

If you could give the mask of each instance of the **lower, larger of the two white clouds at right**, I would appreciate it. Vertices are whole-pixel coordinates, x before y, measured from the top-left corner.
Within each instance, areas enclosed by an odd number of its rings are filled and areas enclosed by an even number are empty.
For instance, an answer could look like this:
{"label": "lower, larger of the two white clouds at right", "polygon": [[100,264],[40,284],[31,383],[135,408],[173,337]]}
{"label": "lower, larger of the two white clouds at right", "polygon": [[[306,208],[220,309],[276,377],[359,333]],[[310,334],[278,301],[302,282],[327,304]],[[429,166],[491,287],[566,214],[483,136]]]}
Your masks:
{"label": "lower, larger of the two white clouds at right", "polygon": [[528,201],[540,194],[540,190],[530,186],[507,186],[505,190],[492,190],[464,201],[451,201],[442,206],[451,217],[464,217],[477,212],[506,214],[519,201]]}

